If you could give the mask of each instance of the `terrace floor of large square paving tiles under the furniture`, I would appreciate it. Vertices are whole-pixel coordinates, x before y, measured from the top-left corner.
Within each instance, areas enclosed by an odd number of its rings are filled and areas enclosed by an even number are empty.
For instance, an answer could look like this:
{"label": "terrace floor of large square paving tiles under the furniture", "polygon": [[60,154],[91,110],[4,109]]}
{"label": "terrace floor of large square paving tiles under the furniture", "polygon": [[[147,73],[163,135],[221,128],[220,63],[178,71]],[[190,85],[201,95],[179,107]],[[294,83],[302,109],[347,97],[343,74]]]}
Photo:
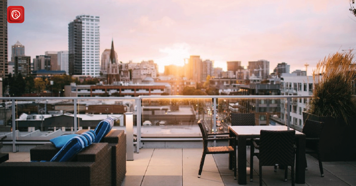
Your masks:
{"label": "terrace floor of large square paving tiles under the furniture", "polygon": [[[249,150],[247,150],[249,152]],[[135,153],[133,161],[127,161],[127,172],[122,186],[235,186],[234,172],[228,168],[228,155],[206,155],[201,178],[198,169],[202,148],[142,148]],[[30,161],[30,153],[9,153],[8,161]],[[259,185],[258,159],[253,169],[253,182]],[[247,159],[249,166],[250,159]],[[324,177],[320,177],[318,160],[307,154],[308,170],[305,171],[306,186],[356,186],[356,161],[323,162]],[[249,167],[247,167],[249,174]],[[290,169],[290,168],[289,168]],[[290,186],[284,182],[284,170],[273,171],[273,167],[263,167],[263,185]],[[247,178],[249,179],[249,177]]]}

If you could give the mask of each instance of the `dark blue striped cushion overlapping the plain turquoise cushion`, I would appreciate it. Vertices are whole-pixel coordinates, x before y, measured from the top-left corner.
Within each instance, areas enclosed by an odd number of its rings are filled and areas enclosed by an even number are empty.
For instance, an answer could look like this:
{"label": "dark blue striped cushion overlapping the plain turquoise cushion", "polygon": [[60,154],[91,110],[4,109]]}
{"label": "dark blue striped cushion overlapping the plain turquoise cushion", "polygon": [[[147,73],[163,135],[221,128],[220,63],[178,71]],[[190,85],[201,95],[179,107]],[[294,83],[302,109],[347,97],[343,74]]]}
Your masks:
{"label": "dark blue striped cushion overlapping the plain turquoise cushion", "polygon": [[84,135],[73,137],[54,155],[51,161],[68,161],[88,145],[88,139]]}

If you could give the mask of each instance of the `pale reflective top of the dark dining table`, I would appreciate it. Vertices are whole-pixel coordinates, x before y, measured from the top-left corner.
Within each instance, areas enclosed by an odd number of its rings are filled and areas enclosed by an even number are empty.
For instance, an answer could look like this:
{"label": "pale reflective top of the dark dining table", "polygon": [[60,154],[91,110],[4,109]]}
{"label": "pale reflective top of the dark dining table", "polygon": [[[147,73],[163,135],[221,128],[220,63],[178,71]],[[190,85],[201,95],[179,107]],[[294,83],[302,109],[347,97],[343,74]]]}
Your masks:
{"label": "pale reflective top of the dark dining table", "polygon": [[[231,132],[236,135],[260,135],[261,130],[269,131],[288,131],[294,130],[287,126],[229,126]],[[302,132],[295,131],[295,135],[304,135]]]}

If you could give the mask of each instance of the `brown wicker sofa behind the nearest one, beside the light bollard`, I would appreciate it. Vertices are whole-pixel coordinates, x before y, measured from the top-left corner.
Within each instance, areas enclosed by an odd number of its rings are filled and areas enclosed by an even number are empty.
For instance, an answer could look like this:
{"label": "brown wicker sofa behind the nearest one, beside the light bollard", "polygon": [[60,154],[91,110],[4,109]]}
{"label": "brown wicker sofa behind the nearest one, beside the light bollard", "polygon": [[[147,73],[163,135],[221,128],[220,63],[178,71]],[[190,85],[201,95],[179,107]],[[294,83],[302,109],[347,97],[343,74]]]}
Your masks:
{"label": "brown wicker sofa behind the nearest one, beside the light bollard", "polygon": [[[88,130],[80,130],[77,134],[82,134]],[[111,183],[112,185],[120,186],[126,174],[126,134],[123,130],[111,130],[100,141],[100,143],[108,143],[111,147]],[[59,149],[54,147],[52,143],[41,145],[30,150],[31,161],[51,160],[57,154]]]}

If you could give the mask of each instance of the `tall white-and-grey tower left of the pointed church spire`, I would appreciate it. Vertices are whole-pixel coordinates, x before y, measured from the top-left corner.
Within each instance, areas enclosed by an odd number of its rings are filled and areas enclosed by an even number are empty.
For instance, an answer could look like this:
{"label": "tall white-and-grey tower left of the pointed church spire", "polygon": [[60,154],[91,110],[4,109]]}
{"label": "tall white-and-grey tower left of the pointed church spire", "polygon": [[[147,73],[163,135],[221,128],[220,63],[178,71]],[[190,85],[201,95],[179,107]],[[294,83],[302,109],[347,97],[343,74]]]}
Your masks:
{"label": "tall white-and-grey tower left of the pointed church spire", "polygon": [[79,15],[68,24],[69,73],[100,76],[99,16]]}

